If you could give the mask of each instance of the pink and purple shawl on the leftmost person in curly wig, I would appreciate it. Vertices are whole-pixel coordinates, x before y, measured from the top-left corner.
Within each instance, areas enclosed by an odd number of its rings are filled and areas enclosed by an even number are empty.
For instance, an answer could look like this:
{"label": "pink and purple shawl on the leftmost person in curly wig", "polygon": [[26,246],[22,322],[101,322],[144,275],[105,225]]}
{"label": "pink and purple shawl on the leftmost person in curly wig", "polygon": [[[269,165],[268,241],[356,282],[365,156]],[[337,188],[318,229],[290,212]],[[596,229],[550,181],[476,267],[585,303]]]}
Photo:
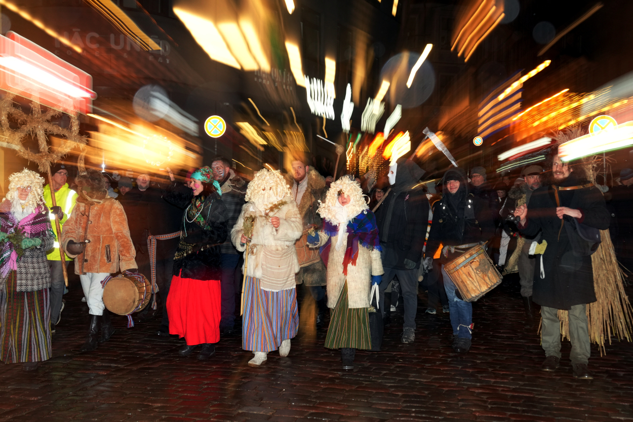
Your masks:
{"label": "pink and purple shawl on the leftmost person in curly wig", "polygon": [[[11,234],[16,229],[22,230],[27,238],[39,238],[46,235],[49,219],[48,213],[42,214],[42,208],[38,207],[35,212],[27,215],[18,222],[13,213],[0,213],[0,231]],[[6,278],[11,270],[18,269],[18,253],[16,247],[11,242],[4,242],[0,250],[0,277]]]}

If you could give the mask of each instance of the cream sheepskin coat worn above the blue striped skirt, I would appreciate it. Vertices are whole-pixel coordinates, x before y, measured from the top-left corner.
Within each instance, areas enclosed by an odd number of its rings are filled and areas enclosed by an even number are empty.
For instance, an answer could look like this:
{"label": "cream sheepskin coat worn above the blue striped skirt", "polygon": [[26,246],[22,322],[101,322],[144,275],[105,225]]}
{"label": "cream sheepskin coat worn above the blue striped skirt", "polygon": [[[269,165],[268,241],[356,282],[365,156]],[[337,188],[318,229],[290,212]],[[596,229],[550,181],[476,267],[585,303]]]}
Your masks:
{"label": "cream sheepskin coat worn above the blue striped skirt", "polygon": [[[285,290],[294,288],[294,274],[299,271],[299,261],[294,243],[303,234],[303,222],[297,204],[292,200],[291,196],[285,195],[282,201],[285,204],[277,210],[270,212],[268,216],[258,209],[253,201],[249,201],[242,207],[242,212],[231,231],[231,241],[239,252],[246,251],[246,245],[240,243],[242,234],[244,233],[244,215],[252,214],[255,216],[253,226],[253,237],[251,238],[251,246],[249,248],[248,268],[246,275],[254,278],[262,278],[262,262],[264,252],[273,255],[287,255],[285,263],[282,265],[289,266],[292,278],[289,278],[283,286],[266,285],[265,281],[261,281],[260,286],[264,290]],[[270,224],[270,217],[279,217],[279,228]],[[246,253],[244,253],[246,260]],[[242,266],[244,272],[244,266]]]}

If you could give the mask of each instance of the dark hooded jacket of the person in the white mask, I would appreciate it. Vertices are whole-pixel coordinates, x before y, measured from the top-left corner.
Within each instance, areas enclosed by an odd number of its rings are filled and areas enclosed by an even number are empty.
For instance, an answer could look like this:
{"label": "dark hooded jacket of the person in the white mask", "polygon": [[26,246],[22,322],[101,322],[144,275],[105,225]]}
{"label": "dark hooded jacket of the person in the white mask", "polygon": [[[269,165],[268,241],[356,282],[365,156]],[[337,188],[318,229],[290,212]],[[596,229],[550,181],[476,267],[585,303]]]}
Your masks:
{"label": "dark hooded jacket of the person in the white mask", "polygon": [[424,170],[404,157],[397,163],[396,181],[375,213],[382,265],[407,269],[404,260],[408,259],[419,268],[429,221],[429,201],[418,183]]}

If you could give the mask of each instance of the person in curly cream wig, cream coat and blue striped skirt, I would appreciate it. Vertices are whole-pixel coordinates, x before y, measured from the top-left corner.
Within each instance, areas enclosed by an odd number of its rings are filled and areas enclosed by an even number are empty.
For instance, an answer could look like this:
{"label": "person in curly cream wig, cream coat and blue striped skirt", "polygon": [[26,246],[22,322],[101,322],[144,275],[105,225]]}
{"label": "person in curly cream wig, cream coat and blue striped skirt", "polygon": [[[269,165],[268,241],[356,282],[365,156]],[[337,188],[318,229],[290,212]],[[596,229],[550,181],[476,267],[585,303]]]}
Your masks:
{"label": "person in curly cream wig, cream coat and blue striped skirt", "polygon": [[287,356],[299,328],[294,243],[303,223],[279,170],[258,171],[248,184],[246,201],[231,240],[244,252],[242,348],[255,355],[249,366],[260,366],[277,348],[280,356]]}

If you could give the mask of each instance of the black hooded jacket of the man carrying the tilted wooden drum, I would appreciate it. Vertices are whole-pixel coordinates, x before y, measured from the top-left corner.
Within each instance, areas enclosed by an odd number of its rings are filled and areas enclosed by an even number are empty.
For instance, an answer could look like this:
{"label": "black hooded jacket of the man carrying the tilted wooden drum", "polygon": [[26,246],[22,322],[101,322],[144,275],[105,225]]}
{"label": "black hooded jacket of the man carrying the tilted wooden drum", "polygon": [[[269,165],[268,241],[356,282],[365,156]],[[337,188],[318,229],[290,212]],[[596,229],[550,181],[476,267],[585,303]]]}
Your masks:
{"label": "black hooded jacket of the man carrying the tilted wooden drum", "polygon": [[[447,177],[458,177],[460,188],[451,194],[446,187]],[[442,179],[444,195],[435,206],[433,222],[429,233],[426,256],[433,257],[439,245],[460,246],[487,241],[494,235],[494,222],[489,210],[489,203],[468,191],[468,181],[462,169],[450,169]],[[461,252],[447,251],[440,257],[446,264]]]}

